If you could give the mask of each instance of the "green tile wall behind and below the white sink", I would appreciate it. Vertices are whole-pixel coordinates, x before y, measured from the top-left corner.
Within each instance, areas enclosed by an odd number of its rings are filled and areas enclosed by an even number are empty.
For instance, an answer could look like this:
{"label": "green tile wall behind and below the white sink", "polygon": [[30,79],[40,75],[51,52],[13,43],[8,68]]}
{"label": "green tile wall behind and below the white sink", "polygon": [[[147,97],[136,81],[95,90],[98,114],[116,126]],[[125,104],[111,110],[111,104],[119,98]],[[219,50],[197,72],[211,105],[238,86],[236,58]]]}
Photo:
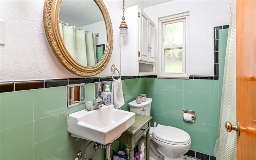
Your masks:
{"label": "green tile wall behind and below the white sink", "polygon": [[[112,82],[107,82],[112,85]],[[122,80],[126,104],[144,93],[144,78]],[[94,99],[94,83],[85,85],[86,101]],[[73,160],[89,143],[70,136],[67,115],[85,109],[85,104],[66,108],[66,86],[0,93],[0,159],[1,160]],[[94,144],[94,143],[93,143]],[[94,150],[87,156],[104,160],[105,150]],[[118,141],[111,151],[118,151]]]}

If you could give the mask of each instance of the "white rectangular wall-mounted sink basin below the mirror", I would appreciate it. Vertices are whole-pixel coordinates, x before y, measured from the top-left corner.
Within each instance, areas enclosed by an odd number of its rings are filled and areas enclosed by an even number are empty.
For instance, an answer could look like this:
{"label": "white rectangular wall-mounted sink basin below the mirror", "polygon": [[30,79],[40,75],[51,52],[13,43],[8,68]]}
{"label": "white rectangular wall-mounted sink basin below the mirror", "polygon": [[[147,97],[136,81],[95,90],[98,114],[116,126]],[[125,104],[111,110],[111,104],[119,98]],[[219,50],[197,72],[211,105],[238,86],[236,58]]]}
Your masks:
{"label": "white rectangular wall-mounted sink basin below the mirror", "polygon": [[109,144],[119,138],[135,122],[135,113],[114,108],[114,105],[69,114],[68,132],[72,137]]}

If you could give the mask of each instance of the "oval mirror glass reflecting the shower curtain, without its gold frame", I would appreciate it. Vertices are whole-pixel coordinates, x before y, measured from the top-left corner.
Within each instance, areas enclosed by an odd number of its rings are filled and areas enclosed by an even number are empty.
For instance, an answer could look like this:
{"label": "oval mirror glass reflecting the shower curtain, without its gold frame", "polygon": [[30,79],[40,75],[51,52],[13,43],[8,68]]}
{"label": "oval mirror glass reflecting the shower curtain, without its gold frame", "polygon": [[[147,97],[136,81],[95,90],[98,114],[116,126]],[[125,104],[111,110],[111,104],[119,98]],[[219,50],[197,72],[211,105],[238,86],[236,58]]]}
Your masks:
{"label": "oval mirror glass reflecting the shower curtain, without its gold frame", "polygon": [[102,59],[107,42],[106,24],[94,0],[63,0],[59,30],[70,56],[82,66]]}

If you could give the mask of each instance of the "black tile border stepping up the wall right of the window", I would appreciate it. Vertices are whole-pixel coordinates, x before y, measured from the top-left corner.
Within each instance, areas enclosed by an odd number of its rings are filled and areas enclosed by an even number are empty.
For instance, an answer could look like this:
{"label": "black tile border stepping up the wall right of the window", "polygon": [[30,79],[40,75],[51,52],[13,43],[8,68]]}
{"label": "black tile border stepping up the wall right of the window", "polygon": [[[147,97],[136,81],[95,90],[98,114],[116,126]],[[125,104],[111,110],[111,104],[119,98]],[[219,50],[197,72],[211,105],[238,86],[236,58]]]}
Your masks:
{"label": "black tile border stepping up the wall right of the window", "polygon": [[202,76],[202,75],[191,75],[189,79],[199,80],[218,80],[219,79],[219,30],[228,28],[229,25],[217,26],[213,29],[213,55],[214,55],[214,75],[213,76]]}

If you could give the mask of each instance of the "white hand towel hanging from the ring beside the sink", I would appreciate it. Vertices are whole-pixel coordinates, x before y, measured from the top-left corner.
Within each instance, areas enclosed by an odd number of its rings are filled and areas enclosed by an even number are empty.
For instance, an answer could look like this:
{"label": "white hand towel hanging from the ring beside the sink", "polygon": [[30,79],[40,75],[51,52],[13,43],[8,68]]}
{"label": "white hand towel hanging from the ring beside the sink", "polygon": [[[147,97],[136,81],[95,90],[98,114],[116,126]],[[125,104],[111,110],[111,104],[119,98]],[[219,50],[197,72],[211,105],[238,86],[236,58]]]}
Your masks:
{"label": "white hand towel hanging from the ring beside the sink", "polygon": [[124,105],[122,80],[120,78],[118,80],[113,81],[111,94],[112,104],[114,104],[116,109],[120,109],[120,107]]}

